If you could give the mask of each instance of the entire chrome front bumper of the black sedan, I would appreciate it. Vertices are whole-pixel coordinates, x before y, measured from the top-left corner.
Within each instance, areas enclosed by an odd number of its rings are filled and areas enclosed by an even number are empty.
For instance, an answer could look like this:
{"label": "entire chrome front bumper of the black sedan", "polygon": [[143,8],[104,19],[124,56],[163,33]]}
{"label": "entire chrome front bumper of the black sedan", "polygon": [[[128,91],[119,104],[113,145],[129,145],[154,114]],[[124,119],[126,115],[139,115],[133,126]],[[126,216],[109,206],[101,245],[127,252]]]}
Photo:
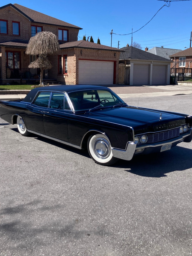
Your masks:
{"label": "entire chrome front bumper of the black sedan", "polygon": [[131,160],[136,154],[149,154],[154,152],[160,152],[161,147],[172,143],[171,147],[176,146],[180,142],[190,142],[192,140],[192,128],[184,134],[179,135],[177,138],[173,138],[166,141],[161,141],[153,144],[137,145],[135,142],[129,142],[126,150],[112,148],[113,156],[119,159]]}

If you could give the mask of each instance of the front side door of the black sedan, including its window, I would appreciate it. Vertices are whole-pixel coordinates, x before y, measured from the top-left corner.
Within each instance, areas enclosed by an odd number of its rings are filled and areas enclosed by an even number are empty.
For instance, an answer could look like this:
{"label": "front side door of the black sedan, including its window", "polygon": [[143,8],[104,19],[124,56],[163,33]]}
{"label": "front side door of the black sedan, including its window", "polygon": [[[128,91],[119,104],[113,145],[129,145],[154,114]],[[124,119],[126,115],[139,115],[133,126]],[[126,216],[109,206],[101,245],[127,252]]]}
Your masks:
{"label": "front side door of the black sedan, including its window", "polygon": [[45,134],[49,137],[68,142],[67,118],[69,112],[71,110],[65,95],[59,92],[52,92],[48,110],[44,113]]}

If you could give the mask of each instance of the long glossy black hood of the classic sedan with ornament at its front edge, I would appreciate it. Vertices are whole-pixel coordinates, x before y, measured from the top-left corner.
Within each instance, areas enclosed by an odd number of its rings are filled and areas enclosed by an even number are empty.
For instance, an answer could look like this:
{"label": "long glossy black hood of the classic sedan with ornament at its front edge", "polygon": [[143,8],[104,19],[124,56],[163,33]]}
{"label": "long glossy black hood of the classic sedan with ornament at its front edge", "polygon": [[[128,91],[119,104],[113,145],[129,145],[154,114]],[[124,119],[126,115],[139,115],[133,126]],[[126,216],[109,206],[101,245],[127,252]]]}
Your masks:
{"label": "long glossy black hood of the classic sedan with ornament at its front edge", "polygon": [[84,115],[93,119],[131,126],[134,131],[138,131],[137,134],[171,129],[185,123],[183,116],[137,107],[99,109]]}

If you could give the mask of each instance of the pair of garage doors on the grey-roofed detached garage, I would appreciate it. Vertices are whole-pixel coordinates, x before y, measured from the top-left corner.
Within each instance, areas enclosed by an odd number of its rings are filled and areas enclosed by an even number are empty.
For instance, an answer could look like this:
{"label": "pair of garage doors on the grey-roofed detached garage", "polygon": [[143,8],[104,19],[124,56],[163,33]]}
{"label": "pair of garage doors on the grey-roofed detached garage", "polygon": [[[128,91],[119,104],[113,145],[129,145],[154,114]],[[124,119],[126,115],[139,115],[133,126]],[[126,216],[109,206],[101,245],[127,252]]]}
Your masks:
{"label": "pair of garage doors on the grey-roofed detached garage", "polygon": [[[166,84],[167,66],[153,65],[152,84]],[[150,65],[134,64],[133,84],[147,85],[150,83]]]}

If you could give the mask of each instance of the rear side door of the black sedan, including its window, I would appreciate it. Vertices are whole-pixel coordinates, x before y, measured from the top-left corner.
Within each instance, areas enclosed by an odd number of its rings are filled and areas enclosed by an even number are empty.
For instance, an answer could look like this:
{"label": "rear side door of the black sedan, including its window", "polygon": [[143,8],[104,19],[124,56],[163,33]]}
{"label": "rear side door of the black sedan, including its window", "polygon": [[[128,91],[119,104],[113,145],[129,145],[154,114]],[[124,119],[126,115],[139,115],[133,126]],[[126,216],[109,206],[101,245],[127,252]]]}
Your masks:
{"label": "rear side door of the black sedan, including its window", "polygon": [[39,92],[32,104],[26,105],[25,124],[28,130],[45,134],[44,114],[47,113],[51,92]]}

